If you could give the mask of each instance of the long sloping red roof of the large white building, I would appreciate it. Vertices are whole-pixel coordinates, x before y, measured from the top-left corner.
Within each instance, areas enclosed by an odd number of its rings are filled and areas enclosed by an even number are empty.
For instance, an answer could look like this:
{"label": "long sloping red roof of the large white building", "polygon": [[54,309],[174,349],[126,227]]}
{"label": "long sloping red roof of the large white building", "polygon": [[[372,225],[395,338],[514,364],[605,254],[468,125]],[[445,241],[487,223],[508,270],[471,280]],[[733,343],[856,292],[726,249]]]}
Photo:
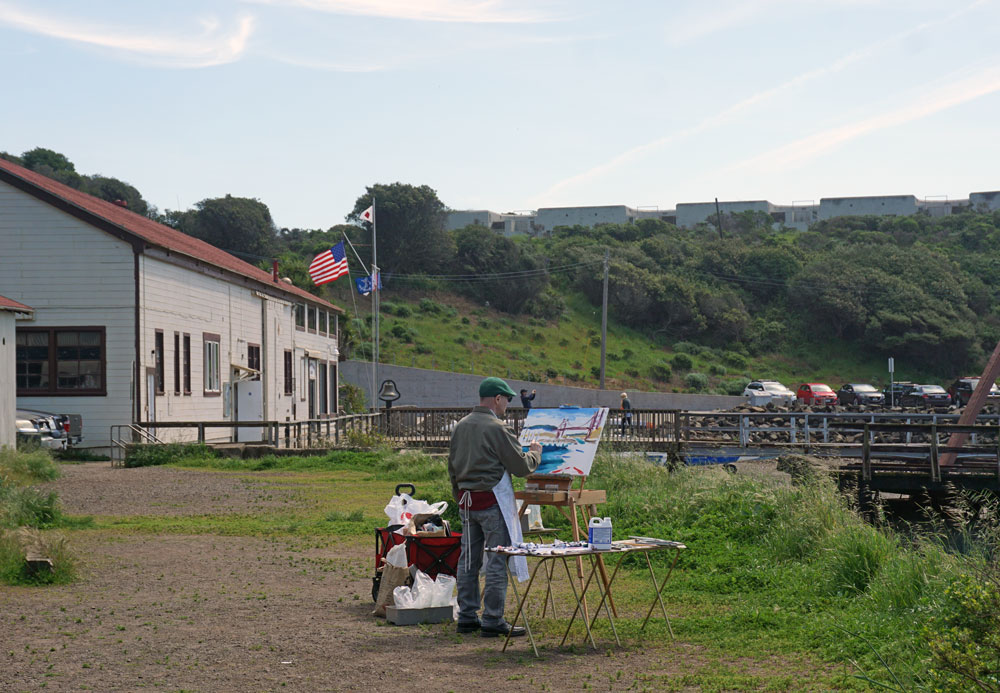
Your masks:
{"label": "long sloping red roof of the large white building", "polygon": [[[305,289],[300,289],[299,287],[293,286],[288,282],[274,282],[270,272],[262,270],[259,267],[254,267],[250,263],[244,262],[243,260],[240,260],[239,258],[230,255],[226,251],[220,250],[205,241],[198,240],[197,238],[189,236],[186,233],[178,231],[177,229],[172,229],[169,226],[164,226],[163,224],[157,223],[152,219],[148,219],[141,214],[136,214],[135,212],[129,211],[124,207],[119,207],[116,204],[106,202],[94,197],[93,195],[80,192],[79,190],[75,190],[68,185],[63,185],[62,183],[58,183],[51,178],[43,176],[40,173],[29,171],[22,166],[18,166],[17,164],[7,161],[6,159],[0,158],[0,180],[13,182],[9,179],[9,177],[13,177],[14,179],[27,183],[29,186],[28,192],[35,194],[43,200],[46,200],[45,193],[58,198],[58,200],[73,208],[69,210],[71,213],[76,212],[77,216],[81,216],[85,220],[87,217],[96,217],[97,219],[109,223],[126,234],[137,237],[150,245],[155,245],[173,253],[179,253],[196,260],[207,262],[210,265],[228,270],[243,277],[249,277],[250,279],[266,284],[268,287],[277,289],[283,293],[293,294],[301,299],[331,308],[340,313],[344,312],[338,306],[313,296]],[[42,194],[39,195],[38,193]],[[82,212],[82,214],[80,214],[80,212]]]}

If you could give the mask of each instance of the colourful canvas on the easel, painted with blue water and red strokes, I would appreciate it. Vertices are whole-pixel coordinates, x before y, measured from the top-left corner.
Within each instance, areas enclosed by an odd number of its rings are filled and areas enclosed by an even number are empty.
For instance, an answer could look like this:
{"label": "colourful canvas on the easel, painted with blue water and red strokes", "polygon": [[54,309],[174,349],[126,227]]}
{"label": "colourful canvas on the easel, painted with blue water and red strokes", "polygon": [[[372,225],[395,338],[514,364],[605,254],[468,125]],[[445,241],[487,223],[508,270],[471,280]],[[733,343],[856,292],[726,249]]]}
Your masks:
{"label": "colourful canvas on the easel, painted with blue water and red strokes", "polygon": [[532,409],[518,442],[525,449],[533,441],[541,444],[542,461],[535,474],[588,476],[607,420],[607,407]]}

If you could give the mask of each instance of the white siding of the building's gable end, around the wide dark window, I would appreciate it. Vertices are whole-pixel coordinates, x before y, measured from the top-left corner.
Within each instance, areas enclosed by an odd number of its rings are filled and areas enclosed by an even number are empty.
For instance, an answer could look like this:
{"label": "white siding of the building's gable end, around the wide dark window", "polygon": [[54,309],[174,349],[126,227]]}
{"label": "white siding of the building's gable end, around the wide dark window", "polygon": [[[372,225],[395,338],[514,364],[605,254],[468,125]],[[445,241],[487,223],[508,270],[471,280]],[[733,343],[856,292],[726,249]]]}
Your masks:
{"label": "white siding of the building's gable end, around the wide dark window", "polygon": [[106,328],[106,396],[18,397],[19,406],[83,416],[84,446],[107,446],[131,421],[135,303],[131,247],[0,182],[0,294],[35,309],[19,326]]}

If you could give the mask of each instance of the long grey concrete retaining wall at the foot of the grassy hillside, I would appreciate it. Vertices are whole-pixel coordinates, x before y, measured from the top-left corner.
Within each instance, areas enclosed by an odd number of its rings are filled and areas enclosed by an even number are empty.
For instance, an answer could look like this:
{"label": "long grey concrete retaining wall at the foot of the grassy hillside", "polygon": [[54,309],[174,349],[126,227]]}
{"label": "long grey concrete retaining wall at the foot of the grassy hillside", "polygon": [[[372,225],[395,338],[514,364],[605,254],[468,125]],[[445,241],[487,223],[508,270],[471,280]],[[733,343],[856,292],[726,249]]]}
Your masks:
{"label": "long grey concrete retaining wall at the foot of the grassy hillside", "polygon": [[[503,374],[500,374],[501,376]],[[342,361],[341,382],[357,385],[365,391],[371,401],[371,363],[366,361]],[[472,407],[479,402],[479,383],[483,375],[471,373],[448,373],[407,366],[379,364],[379,383],[394,380],[402,395],[394,406],[416,407]],[[621,402],[620,390],[592,390],[564,385],[543,385],[526,380],[507,379],[514,392],[521,388],[538,390],[532,403],[535,407],[557,407],[572,404],[581,407],[617,408]],[[376,386],[377,389],[377,386]],[[629,390],[629,401],[636,409],[685,409],[690,411],[728,409],[744,402],[743,397],[724,395],[688,395],[668,392],[637,392]],[[520,406],[515,399],[511,406]]]}

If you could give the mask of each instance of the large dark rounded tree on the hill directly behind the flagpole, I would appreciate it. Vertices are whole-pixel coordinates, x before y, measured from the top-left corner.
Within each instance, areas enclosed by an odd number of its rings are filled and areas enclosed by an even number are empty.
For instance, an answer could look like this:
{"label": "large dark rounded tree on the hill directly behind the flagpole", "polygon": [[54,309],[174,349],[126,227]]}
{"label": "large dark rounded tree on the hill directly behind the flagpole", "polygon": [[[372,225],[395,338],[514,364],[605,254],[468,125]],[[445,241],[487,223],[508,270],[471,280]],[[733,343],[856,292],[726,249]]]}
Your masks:
{"label": "large dark rounded tree on the hill directly behind the flagpole", "polygon": [[454,243],[445,231],[445,206],[434,190],[426,185],[376,183],[354,203],[348,221],[358,222],[373,199],[381,269],[402,274],[433,273],[451,263]]}

